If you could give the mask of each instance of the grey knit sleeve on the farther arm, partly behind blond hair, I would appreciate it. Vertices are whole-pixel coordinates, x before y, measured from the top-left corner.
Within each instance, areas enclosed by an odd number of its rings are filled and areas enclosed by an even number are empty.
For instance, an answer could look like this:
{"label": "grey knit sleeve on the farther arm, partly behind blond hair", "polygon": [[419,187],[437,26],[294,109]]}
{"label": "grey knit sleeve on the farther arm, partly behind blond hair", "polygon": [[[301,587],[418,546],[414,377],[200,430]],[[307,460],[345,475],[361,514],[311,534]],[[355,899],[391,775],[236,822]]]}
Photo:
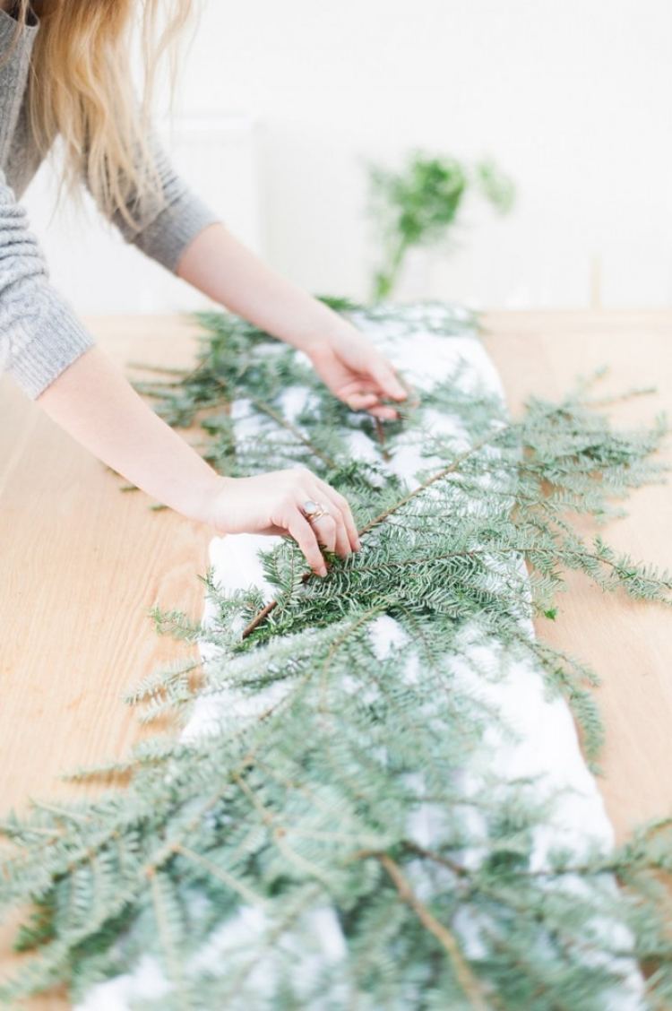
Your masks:
{"label": "grey knit sleeve on the farther arm, partly behind blond hair", "polygon": [[[150,148],[155,158],[165,203],[145,201],[138,227],[131,227],[121,211],[111,215],[112,222],[126,242],[175,273],[183,251],[202,228],[220,220],[218,214],[197,196],[173,168],[156,131],[150,133]],[[136,218],[138,210],[131,193],[127,207]]]}

